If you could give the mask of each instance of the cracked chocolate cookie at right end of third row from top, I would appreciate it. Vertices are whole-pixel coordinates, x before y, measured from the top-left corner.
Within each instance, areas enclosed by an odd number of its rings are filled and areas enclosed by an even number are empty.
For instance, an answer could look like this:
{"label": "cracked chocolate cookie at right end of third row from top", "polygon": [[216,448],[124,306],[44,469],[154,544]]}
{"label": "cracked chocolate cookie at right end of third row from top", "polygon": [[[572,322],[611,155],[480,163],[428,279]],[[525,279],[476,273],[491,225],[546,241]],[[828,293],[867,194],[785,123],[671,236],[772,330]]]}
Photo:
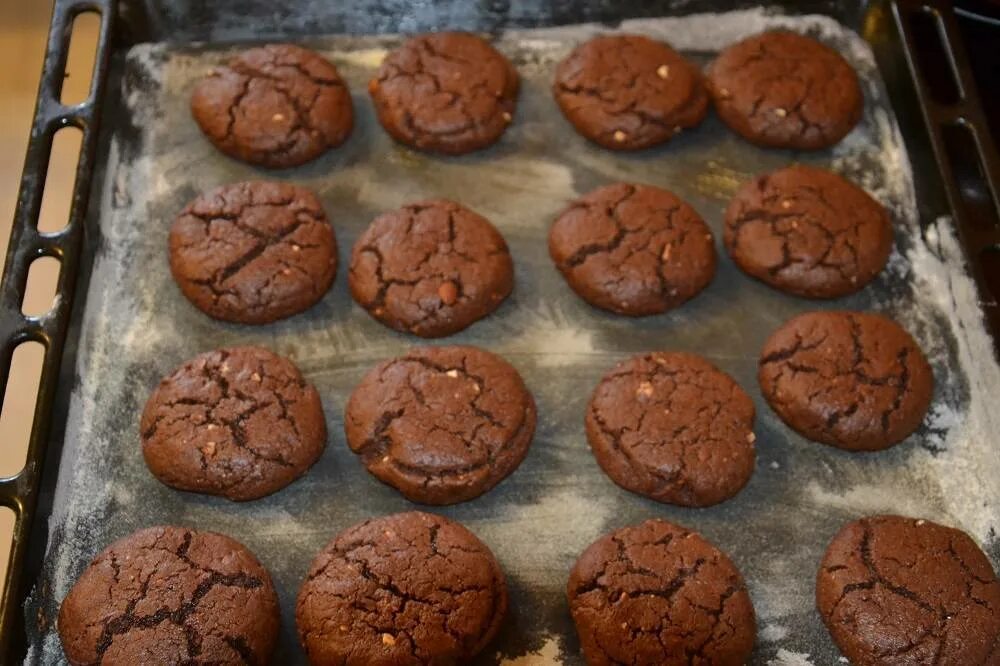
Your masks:
{"label": "cracked chocolate cookie at right end of third row from top", "polygon": [[916,430],[934,376],[899,324],[860,312],[810,312],[786,322],[761,351],[757,373],[781,420],[811,440],[877,451]]}

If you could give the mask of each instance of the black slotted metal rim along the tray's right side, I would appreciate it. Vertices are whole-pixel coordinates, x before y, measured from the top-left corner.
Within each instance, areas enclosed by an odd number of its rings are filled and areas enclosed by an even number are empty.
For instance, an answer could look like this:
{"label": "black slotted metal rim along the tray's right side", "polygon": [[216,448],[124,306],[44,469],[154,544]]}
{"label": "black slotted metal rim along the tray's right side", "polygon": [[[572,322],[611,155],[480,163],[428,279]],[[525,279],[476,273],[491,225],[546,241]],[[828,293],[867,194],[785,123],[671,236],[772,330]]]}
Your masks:
{"label": "black slotted metal rim along the tray's right side", "polygon": [[893,12],[958,238],[1000,358],[1000,155],[951,3],[895,0]]}

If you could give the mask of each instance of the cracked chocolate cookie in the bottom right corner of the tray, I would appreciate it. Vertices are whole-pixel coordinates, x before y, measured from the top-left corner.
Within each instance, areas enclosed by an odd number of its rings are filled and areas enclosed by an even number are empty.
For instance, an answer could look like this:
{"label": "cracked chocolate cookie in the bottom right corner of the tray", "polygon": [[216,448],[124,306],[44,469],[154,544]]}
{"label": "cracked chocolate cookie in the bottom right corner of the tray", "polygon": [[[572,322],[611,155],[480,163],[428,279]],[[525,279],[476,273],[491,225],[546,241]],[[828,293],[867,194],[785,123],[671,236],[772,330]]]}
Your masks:
{"label": "cracked chocolate cookie in the bottom right corner of the tray", "polygon": [[847,523],[820,564],[816,605],[852,664],[1000,664],[1000,582],[967,534],[929,520]]}

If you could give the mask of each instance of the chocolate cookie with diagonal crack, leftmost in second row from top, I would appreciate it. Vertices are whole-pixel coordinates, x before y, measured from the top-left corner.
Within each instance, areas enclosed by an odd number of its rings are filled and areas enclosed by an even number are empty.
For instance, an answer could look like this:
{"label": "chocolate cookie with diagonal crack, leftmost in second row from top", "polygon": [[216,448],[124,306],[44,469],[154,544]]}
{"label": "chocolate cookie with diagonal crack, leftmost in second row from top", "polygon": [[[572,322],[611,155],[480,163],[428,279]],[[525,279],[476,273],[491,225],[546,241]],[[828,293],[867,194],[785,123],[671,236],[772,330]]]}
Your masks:
{"label": "chocolate cookie with diagonal crack, leftmost in second row from top", "polygon": [[288,183],[223,185],[170,229],[170,271],[216,319],[264,324],[308,309],[333,284],[337,241],[316,196]]}

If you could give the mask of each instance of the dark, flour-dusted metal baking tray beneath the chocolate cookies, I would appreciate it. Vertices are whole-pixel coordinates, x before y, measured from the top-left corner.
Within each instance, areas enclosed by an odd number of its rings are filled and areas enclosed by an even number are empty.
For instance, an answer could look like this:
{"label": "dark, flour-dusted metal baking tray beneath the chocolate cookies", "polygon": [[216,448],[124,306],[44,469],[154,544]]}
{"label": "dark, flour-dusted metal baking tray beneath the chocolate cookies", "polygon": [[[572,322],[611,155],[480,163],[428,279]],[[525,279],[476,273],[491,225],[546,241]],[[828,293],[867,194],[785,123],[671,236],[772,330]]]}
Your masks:
{"label": "dark, flour-dusted metal baking tray beneath the chocolate cookies", "polygon": [[[133,11],[148,12],[151,4]],[[496,12],[484,11],[481,18],[493,22],[477,23],[475,12],[454,5],[458,13],[445,16],[444,25],[495,32],[498,47],[518,66],[524,82],[517,122],[500,144],[463,158],[414,153],[393,144],[374,121],[365,83],[398,37],[311,34],[300,40],[330,57],[350,83],[357,127],[344,147],[316,162],[267,173],[219,155],[188,115],[192,83],[237,48],[220,40],[246,36],[233,27],[238,24],[232,16],[229,23],[217,24],[209,17],[203,34],[196,15],[190,32],[180,35],[185,41],[115,52],[107,77],[110,103],[103,113],[107,129],[90,197],[90,245],[80,265],[86,279],[78,300],[85,299],[85,307],[77,309],[69,335],[75,365],[65,372],[73,373],[72,381],[62,382],[63,390],[71,388],[69,406],[65,418],[58,412],[56,417],[66,424],[64,436],[56,433],[63,442],[60,471],[54,474],[56,466],[50,465],[45,474],[54,499],[48,506],[48,496],[42,495],[39,515],[50,514],[49,520],[35,521],[40,538],[28,546],[36,549],[37,560],[29,555],[26,562],[35,566],[20,569],[31,586],[23,615],[27,663],[60,663],[54,632],[58,603],[94,553],[114,538],[162,522],[222,531],[254,550],[275,577],[284,612],[275,663],[300,663],[294,598],[314,554],[347,525],[414,507],[364,472],[344,444],[341,416],[350,390],[368,368],[418,341],[381,327],[353,305],[343,269],[331,293],[310,312],[257,328],[207,319],[170,280],[166,234],[177,211],[203,189],[255,177],[315,189],[337,231],[342,260],[375,214],[429,196],[453,197],[485,214],[511,245],[514,295],[496,314],[447,341],[504,355],[522,372],[539,404],[538,433],[510,479],[477,500],[439,509],[490,544],[508,574],[511,614],[481,663],[580,663],[563,597],[568,570],[600,534],[653,516],[698,529],[740,566],[759,617],[753,663],[837,663],[838,653],[813,610],[813,571],[840,524],[858,515],[895,511],[958,525],[984,545],[994,565],[1000,561],[995,526],[1000,479],[988,440],[1000,428],[989,404],[1000,386],[1000,369],[958,235],[950,217],[939,217],[948,208],[934,187],[938,179],[928,161],[928,145],[934,144],[918,142],[908,152],[913,142],[904,145],[893,113],[906,108],[900,82],[912,65],[902,57],[906,30],[902,41],[894,32],[902,25],[894,22],[893,13],[900,9],[882,3],[865,13],[841,8],[833,12],[838,21],[775,9],[705,14],[700,10],[713,3],[677,4],[683,5],[683,15],[672,18],[541,29],[504,26],[565,21],[544,12],[516,20],[516,13],[508,11],[507,22],[496,23],[490,18]],[[830,9],[830,3],[819,4]],[[316,7],[303,5],[312,7],[315,18],[305,28],[322,32],[346,25],[364,32],[350,22],[325,23],[325,15],[316,18]],[[169,14],[164,16],[169,20]],[[442,16],[418,16],[415,20],[424,23],[396,27],[441,27]],[[281,17],[274,21],[281,24]],[[842,22],[861,28],[870,42]],[[282,25],[279,33],[313,32]],[[385,30],[388,24],[371,25]],[[704,63],[719,47],[778,26],[835,45],[862,75],[865,118],[832,151],[763,151],[710,116],[667,147],[614,154],[575,135],[548,92],[554,63],[595,31],[649,34]],[[128,29],[138,34],[135,25]],[[194,37],[211,38],[211,44],[187,41]],[[872,47],[882,56],[878,60]],[[904,115],[899,119],[905,126]],[[907,127],[907,136],[913,127]],[[794,299],[751,281],[723,258],[714,283],[697,299],[675,312],[635,320],[579,301],[547,257],[545,236],[552,218],[569,199],[597,185],[624,179],[667,187],[691,202],[720,236],[721,212],[735,187],[753,173],[792,160],[834,167],[892,211],[896,250],[886,272],[861,294],[835,303]],[[951,194],[949,188],[944,194]],[[938,380],[935,401],[925,425],[906,444],[867,456],[839,452],[794,435],[766,407],[755,381],[763,340],[785,319],[817,307],[886,312],[924,346]],[[246,343],[291,356],[316,384],[331,432],[327,452],[289,488],[246,504],[160,485],[146,470],[138,446],[138,414],[149,391],[198,352]],[[702,353],[754,398],[757,470],[735,499],[702,510],[657,504],[618,489],[590,455],[582,416],[591,387],[616,361],[650,349]],[[9,637],[4,640],[18,647]]]}

